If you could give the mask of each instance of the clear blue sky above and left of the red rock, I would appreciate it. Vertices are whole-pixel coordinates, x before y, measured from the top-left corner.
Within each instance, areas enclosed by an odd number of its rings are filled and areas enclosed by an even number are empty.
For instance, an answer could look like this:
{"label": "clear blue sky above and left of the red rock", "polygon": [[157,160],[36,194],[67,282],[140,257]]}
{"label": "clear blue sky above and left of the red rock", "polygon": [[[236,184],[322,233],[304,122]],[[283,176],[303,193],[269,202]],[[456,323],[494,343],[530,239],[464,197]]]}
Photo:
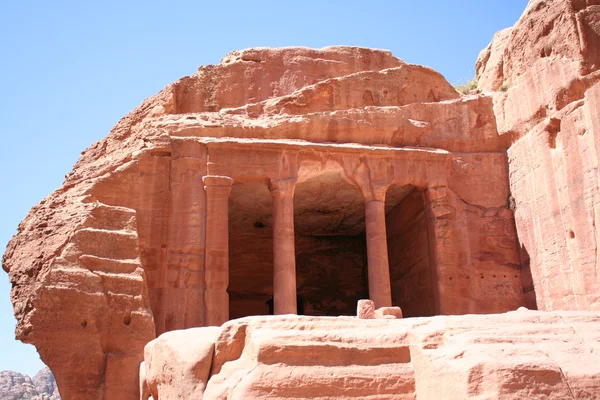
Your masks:
{"label": "clear blue sky above and left of the red rock", "polygon": [[[81,151],[169,82],[252,46],[389,49],[451,83],[527,0],[2,1],[0,250]],[[0,271],[0,371],[35,374]]]}

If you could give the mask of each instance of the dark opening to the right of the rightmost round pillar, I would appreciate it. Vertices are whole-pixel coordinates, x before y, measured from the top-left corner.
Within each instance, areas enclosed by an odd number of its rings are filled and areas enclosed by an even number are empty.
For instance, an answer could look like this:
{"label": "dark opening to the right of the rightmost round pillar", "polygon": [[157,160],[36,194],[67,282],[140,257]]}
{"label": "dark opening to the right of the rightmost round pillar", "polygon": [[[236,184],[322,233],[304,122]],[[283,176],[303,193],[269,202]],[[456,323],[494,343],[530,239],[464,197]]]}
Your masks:
{"label": "dark opening to the right of the rightmost round pillar", "polygon": [[437,314],[430,222],[423,192],[411,185],[391,186],[386,196],[386,231],[392,303],[404,317]]}

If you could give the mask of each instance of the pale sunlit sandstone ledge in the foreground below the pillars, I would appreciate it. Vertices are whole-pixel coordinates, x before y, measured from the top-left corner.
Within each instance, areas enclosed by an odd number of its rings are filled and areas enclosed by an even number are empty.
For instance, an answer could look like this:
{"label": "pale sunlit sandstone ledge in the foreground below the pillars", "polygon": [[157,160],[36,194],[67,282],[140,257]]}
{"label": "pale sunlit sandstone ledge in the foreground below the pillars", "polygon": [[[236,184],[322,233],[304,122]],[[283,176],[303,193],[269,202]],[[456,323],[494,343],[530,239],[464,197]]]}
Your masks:
{"label": "pale sunlit sandstone ledge in the foreground below the pillars", "polygon": [[[153,378],[141,399],[192,398],[174,394],[192,391],[204,400],[600,398],[597,312],[248,317],[225,324],[221,336],[214,329],[150,342],[146,374]],[[207,351],[194,369],[192,360],[168,357],[200,347]],[[210,374],[197,374],[211,360]],[[177,381],[169,383],[171,376]]]}

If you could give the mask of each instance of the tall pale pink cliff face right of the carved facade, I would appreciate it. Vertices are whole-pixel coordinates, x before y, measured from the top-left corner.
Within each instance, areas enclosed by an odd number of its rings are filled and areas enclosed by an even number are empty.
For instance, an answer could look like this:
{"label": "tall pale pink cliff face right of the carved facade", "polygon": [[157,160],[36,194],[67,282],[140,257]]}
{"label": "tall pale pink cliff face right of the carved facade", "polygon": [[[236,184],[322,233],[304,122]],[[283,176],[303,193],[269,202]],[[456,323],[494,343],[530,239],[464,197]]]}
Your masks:
{"label": "tall pale pink cliff face right of the carved facade", "polygon": [[599,57],[598,2],[532,0],[477,62],[479,87],[498,91],[527,303],[540,309],[600,307]]}

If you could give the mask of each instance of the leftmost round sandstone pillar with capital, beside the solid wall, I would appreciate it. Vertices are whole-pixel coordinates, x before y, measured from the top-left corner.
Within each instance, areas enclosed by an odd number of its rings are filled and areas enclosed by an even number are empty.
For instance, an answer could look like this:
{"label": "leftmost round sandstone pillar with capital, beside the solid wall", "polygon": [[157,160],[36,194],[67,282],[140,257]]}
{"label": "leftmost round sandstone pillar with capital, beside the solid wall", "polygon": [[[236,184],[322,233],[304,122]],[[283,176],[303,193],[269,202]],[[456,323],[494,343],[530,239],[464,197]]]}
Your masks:
{"label": "leftmost round sandstone pillar with capital, beside the solid wall", "polygon": [[205,321],[220,326],[229,320],[229,193],[233,179],[208,175],[206,191]]}

